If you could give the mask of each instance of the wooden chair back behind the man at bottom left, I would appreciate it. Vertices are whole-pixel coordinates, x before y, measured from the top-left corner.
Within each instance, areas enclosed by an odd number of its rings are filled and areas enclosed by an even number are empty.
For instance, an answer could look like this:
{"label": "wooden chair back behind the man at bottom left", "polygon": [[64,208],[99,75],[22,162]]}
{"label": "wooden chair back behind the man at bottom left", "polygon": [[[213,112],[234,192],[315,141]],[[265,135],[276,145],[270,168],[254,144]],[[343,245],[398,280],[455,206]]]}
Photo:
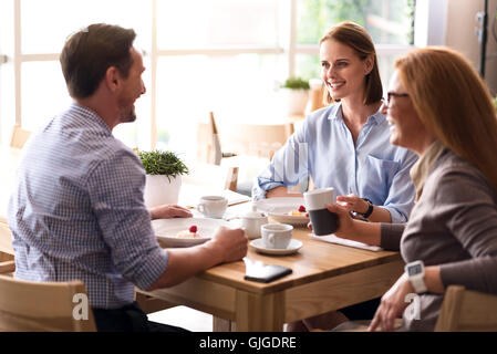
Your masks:
{"label": "wooden chair back behind the man at bottom left", "polygon": [[94,332],[93,312],[76,320],[75,295],[86,296],[81,281],[32,282],[0,275],[0,331],[7,332]]}

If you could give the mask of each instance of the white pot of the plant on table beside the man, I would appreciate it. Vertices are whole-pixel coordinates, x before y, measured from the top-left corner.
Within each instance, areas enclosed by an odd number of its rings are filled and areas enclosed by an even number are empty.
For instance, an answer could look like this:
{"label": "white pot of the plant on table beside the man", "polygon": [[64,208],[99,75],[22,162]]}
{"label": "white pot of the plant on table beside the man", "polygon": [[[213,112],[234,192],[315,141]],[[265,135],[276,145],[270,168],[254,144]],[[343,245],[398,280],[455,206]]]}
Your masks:
{"label": "white pot of the plant on table beside the man", "polygon": [[144,199],[147,208],[164,204],[178,204],[182,175],[167,178],[162,175],[146,175]]}

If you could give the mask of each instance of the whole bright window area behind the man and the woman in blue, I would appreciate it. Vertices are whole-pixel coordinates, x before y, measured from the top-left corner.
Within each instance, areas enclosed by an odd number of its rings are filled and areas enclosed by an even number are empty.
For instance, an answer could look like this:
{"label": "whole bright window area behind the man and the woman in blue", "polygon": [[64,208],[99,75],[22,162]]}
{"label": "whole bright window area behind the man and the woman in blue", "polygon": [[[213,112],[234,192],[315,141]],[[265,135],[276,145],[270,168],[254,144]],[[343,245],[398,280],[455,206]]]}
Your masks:
{"label": "whole bright window area behind the man and the woman in blue", "polygon": [[[12,50],[8,51],[10,69],[0,71],[0,102],[11,105],[13,114],[2,117],[3,142],[6,125],[34,129],[68,106],[71,100],[58,61],[64,40],[90,23],[107,22],[135,29],[136,46],[143,50],[147,67],[147,94],[136,103],[138,119],[120,125],[115,135],[132,147],[187,155],[195,154],[196,123],[206,121],[209,111],[220,122],[283,114],[275,87],[289,75],[319,77],[318,42],[332,24],[349,19],[369,30],[385,82],[393,59],[413,42],[414,29],[414,0],[6,3],[2,19],[12,20],[2,23],[0,51]],[[6,92],[6,83],[14,87],[13,93]],[[2,107],[2,112],[8,111]]]}

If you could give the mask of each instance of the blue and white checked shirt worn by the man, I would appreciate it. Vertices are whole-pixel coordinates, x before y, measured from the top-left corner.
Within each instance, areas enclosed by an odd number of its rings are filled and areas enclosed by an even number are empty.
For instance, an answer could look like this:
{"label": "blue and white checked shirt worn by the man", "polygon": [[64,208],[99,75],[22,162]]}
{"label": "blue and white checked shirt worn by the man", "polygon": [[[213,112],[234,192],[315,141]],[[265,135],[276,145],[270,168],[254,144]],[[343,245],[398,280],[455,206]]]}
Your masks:
{"label": "blue and white checked shirt worn by the man", "polygon": [[15,278],[82,280],[93,308],[133,302],[164,273],[143,201],[145,171],[91,110],[73,104],[24,147],[9,226]]}

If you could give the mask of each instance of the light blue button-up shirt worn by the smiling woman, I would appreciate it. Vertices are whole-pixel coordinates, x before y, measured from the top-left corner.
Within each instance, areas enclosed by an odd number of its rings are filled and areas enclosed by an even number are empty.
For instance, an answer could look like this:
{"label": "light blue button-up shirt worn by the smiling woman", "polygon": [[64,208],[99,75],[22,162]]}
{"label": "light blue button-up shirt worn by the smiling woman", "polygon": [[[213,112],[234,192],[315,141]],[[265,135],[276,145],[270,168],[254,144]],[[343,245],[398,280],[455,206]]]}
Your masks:
{"label": "light blue button-up shirt worn by the smiling woman", "polygon": [[410,169],[417,155],[390,143],[386,118],[367,118],[354,145],[341,104],[311,113],[259,175],[255,199],[279,186],[294,186],[311,175],[317,188],[333,187],[335,196],[355,194],[387,209],[392,222],[407,221],[414,206]]}

